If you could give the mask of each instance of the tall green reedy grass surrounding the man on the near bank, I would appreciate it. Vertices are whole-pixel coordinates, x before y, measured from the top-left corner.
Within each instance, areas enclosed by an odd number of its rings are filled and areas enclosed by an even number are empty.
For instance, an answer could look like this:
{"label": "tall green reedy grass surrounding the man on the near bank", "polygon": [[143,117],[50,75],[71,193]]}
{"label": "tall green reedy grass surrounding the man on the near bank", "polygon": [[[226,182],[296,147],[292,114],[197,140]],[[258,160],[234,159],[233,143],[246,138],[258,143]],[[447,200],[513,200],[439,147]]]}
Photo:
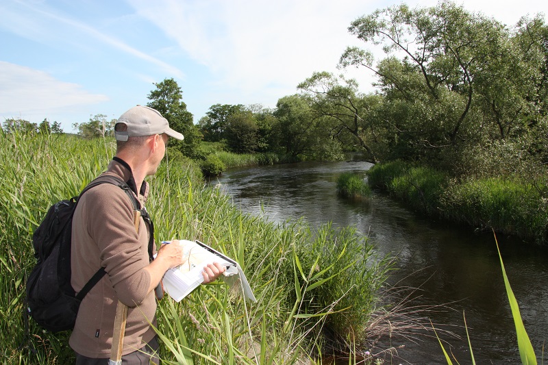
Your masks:
{"label": "tall green reedy grass surrounding the man on the near bank", "polygon": [[[1,362],[72,363],[69,333],[48,333],[31,319],[25,340],[32,233],[49,205],[74,196],[105,169],[114,140],[1,133],[0,146]],[[224,284],[202,286],[181,303],[162,299],[164,364],[321,364],[333,344],[356,355],[352,344],[367,343],[384,313],[378,292],[390,264],[373,255],[363,236],[329,225],[278,227],[244,215],[221,191],[206,188],[192,164],[163,163],[148,181],[155,240],[198,239],[234,257],[258,299],[245,302]]]}

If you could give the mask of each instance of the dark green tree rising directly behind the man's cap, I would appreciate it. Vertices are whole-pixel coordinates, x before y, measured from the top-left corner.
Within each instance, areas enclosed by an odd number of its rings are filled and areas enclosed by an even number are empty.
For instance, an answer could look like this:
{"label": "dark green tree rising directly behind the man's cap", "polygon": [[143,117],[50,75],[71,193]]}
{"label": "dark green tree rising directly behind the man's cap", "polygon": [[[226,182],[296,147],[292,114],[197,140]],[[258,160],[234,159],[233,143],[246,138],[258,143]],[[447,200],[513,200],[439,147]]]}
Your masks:
{"label": "dark green tree rising directly behind the man's cap", "polygon": [[173,78],[164,79],[154,85],[156,88],[148,95],[150,101],[147,106],[158,110],[172,129],[183,134],[184,140],[170,141],[170,145],[186,156],[194,156],[201,135],[192,122],[192,114],[186,110],[186,104],[182,101],[181,88]]}

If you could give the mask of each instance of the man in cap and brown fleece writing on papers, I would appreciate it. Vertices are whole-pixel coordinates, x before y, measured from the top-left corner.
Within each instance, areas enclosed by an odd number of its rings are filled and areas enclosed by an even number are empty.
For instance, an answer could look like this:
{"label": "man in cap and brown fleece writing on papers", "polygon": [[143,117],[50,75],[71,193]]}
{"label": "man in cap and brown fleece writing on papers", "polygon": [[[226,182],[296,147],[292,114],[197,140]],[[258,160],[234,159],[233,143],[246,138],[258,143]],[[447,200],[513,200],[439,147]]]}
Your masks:
{"label": "man in cap and brown fleece writing on papers", "polygon": [[[169,137],[183,135],[169,127],[157,110],[137,105],[116,121],[116,155],[105,174],[121,177],[138,198],[147,201],[147,175],[164,158]],[[102,266],[106,275],[84,297],[69,344],[76,364],[108,364],[118,301],[129,307],[123,343],[123,364],[158,364],[154,289],[166,270],[186,260],[178,241],[164,244],[149,260],[149,226],[142,218],[134,225],[134,206],[126,192],[113,184],[100,184],[82,195],[73,217],[71,284],[76,292]],[[155,249],[155,248],[154,248]],[[214,281],[224,266],[203,270],[204,284]]]}

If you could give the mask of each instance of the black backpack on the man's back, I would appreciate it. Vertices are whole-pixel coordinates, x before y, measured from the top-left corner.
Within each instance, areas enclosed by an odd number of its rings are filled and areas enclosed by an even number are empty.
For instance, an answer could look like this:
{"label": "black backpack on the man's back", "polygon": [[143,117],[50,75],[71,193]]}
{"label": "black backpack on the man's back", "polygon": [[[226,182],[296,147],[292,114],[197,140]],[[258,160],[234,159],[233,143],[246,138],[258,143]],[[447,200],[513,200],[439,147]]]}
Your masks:
{"label": "black backpack on the man's back", "polygon": [[[71,286],[71,231],[73,214],[79,197],[90,188],[99,184],[114,184],[127,193],[135,210],[140,204],[130,191],[129,186],[119,177],[102,175],[93,180],[79,194],[69,200],[63,200],[49,208],[44,220],[32,236],[34,256],[37,263],[27,279],[28,314],[45,329],[58,332],[73,329],[82,299],[105,275],[101,267],[88,283],[76,295]],[[147,221],[147,211],[140,210]],[[147,222],[151,225],[151,222]],[[151,255],[149,241],[149,255]]]}

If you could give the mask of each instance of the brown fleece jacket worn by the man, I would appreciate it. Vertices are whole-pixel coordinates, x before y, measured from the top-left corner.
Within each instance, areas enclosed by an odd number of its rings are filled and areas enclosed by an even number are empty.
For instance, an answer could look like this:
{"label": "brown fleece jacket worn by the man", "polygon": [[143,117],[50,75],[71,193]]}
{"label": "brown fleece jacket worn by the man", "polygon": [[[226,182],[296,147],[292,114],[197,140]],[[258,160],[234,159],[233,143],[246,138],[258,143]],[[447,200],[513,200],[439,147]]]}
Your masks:
{"label": "brown fleece jacket worn by the man", "polygon": [[[125,163],[112,160],[106,173],[117,175],[136,190],[132,172]],[[133,186],[132,186],[133,183]],[[143,182],[139,201],[144,204],[148,184]],[[133,204],[118,186],[100,184],[82,195],[73,218],[71,284],[81,290],[99,267],[105,275],[80,305],[69,344],[87,357],[110,356],[116,303],[129,306],[123,355],[140,349],[155,332],[156,301],[147,293],[150,275],[147,225],[140,219],[136,233]],[[154,248],[155,249],[155,248]]]}

